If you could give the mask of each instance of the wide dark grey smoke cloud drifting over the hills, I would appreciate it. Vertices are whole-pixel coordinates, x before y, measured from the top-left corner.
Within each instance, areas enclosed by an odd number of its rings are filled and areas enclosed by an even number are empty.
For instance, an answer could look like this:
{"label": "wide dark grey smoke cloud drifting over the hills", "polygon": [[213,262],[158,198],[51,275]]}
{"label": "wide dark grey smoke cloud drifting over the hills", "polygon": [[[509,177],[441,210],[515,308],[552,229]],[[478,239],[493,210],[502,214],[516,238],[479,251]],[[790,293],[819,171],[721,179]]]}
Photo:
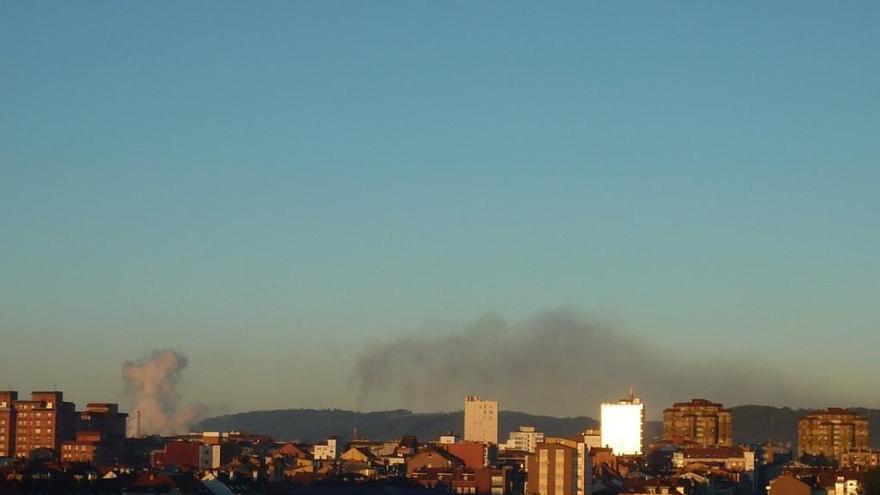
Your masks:
{"label": "wide dark grey smoke cloud drifting over the hills", "polygon": [[622,398],[630,387],[655,418],[673,402],[695,397],[730,406],[828,399],[815,377],[795,377],[725,349],[707,357],[688,347],[665,351],[567,309],[513,325],[489,315],[451,332],[369,345],[353,380],[360,407],[396,403],[419,411],[458,410],[465,395],[479,394],[505,409],[595,416],[601,402]]}

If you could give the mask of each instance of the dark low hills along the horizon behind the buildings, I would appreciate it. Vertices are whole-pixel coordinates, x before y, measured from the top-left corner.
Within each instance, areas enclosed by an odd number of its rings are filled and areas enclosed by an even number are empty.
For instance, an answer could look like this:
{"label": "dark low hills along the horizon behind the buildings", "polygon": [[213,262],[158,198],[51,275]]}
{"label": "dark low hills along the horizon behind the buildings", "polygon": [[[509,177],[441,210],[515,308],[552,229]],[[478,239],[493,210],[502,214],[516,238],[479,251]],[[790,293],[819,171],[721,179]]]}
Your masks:
{"label": "dark low hills along the horizon behind the buildings", "polygon": [[[791,409],[773,406],[736,406],[733,412],[733,437],[736,443],[773,441],[797,447],[797,421],[812,409]],[[871,445],[880,447],[880,410],[851,408],[868,417]],[[278,409],[252,411],[206,418],[195,431],[237,430],[270,435],[278,440],[315,442],[336,435],[346,441],[357,428],[358,436],[371,440],[392,440],[415,435],[421,440],[436,439],[453,431],[462,433],[464,413],[413,413],[405,409],[355,412],[341,409]],[[594,427],[598,422],[587,416],[557,418],[517,411],[502,410],[499,418],[499,440],[505,441],[520,426],[534,426],[546,435],[569,436]],[[648,421],[645,437],[650,442],[663,432],[659,421]]]}

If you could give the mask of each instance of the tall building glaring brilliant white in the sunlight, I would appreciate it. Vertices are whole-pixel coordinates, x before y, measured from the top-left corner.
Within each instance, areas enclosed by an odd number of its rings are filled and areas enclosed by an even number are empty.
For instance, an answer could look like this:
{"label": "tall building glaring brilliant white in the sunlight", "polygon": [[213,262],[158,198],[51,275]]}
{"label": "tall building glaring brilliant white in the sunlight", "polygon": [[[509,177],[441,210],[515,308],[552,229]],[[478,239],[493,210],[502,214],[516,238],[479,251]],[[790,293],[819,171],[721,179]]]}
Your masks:
{"label": "tall building glaring brilliant white in the sunlight", "polygon": [[630,391],[629,398],[602,404],[602,446],[617,455],[641,455],[645,405]]}

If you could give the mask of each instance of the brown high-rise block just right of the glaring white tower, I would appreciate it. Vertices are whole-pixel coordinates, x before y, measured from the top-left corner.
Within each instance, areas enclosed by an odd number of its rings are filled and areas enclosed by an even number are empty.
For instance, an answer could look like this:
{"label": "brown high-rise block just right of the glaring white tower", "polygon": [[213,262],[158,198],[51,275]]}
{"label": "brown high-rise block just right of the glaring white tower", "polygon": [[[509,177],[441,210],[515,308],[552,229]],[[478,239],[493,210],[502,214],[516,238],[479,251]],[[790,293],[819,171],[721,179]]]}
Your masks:
{"label": "brown high-rise block just right of the glaring white tower", "polygon": [[663,411],[663,439],[690,441],[703,447],[733,446],[733,415],[706,399],[678,402]]}

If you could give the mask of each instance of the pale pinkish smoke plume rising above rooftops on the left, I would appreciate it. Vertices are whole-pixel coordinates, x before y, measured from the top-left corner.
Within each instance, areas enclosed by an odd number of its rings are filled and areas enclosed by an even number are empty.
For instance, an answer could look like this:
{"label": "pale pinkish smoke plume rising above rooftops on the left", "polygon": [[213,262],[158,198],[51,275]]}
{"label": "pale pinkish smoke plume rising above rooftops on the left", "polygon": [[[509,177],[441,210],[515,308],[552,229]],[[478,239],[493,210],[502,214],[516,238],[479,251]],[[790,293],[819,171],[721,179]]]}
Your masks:
{"label": "pale pinkish smoke plume rising above rooftops on the left", "polygon": [[134,400],[129,435],[137,433],[137,411],[142,435],[170,435],[189,431],[207,412],[201,404],[180,408],[177,383],[187,366],[186,356],[172,350],[155,350],[140,361],[122,365],[126,393]]}

